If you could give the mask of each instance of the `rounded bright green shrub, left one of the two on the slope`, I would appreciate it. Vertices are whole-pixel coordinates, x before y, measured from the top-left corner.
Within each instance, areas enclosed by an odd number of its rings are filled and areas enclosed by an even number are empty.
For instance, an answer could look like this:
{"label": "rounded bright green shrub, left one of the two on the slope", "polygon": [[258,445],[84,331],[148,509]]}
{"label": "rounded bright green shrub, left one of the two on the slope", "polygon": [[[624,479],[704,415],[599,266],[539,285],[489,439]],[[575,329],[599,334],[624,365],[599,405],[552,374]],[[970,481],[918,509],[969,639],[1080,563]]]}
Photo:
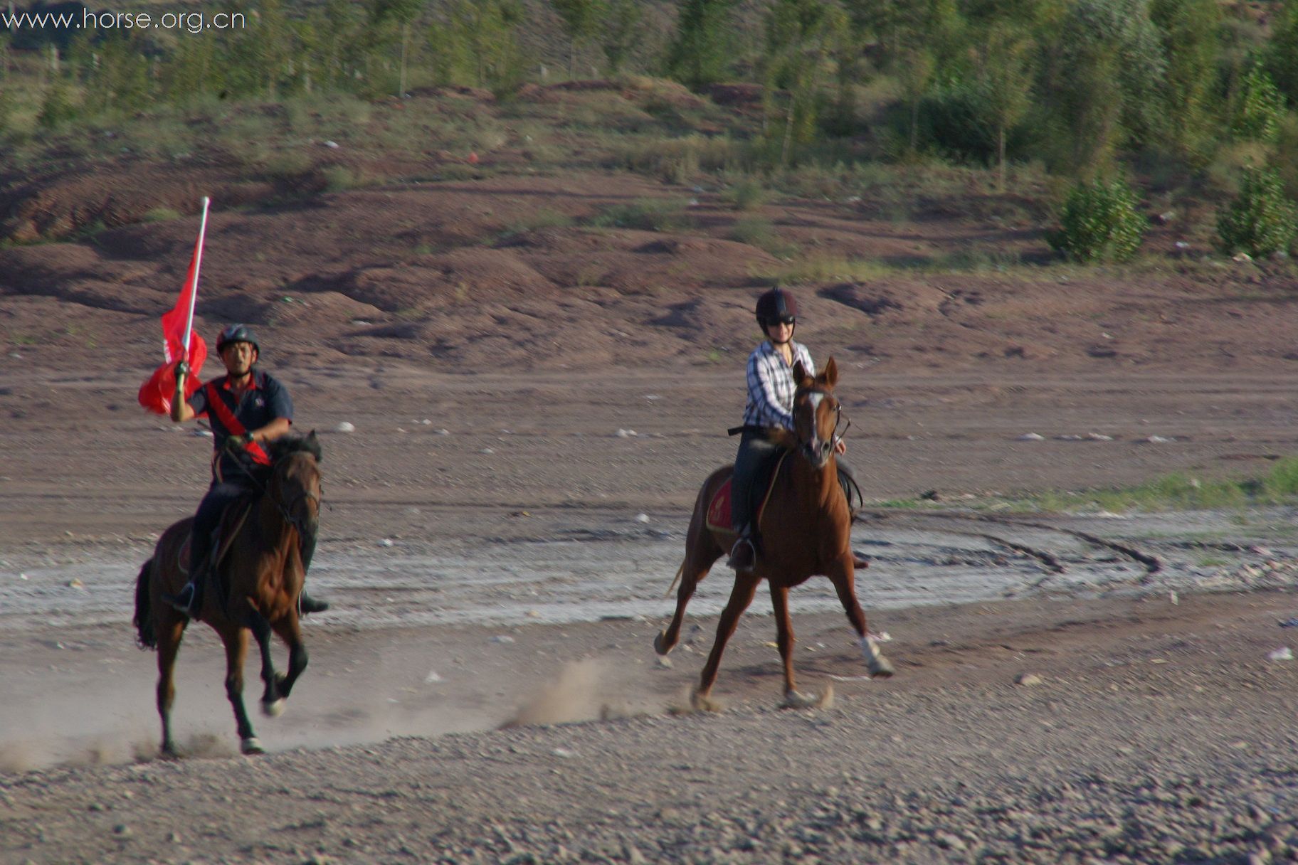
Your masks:
{"label": "rounded bright green shrub, left one of the two on the slope", "polygon": [[1073,185],[1059,211],[1059,228],[1046,240],[1076,261],[1127,261],[1144,233],[1132,188],[1124,180],[1094,180]]}

